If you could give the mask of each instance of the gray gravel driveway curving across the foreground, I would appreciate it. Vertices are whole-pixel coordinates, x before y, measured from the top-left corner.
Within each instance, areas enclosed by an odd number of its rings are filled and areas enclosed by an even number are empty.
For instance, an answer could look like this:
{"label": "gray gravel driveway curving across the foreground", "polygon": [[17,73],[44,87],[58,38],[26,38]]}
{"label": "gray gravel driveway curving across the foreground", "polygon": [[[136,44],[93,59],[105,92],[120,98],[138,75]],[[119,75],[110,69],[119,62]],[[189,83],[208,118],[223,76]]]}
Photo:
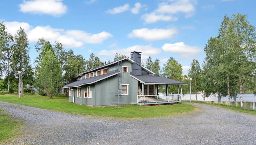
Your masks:
{"label": "gray gravel driveway curving across the foreground", "polygon": [[219,107],[170,117],[115,119],[0,102],[24,124],[8,144],[256,144],[256,116]]}

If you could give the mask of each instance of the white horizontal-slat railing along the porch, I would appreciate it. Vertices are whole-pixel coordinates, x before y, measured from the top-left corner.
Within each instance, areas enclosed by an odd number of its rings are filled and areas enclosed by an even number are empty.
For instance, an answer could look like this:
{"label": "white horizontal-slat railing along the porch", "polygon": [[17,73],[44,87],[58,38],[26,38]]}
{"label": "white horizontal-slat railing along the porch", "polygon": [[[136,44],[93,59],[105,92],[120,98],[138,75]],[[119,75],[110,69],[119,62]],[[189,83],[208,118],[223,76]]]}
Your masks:
{"label": "white horizontal-slat railing along the porch", "polygon": [[153,103],[171,103],[180,101],[181,94],[159,94],[159,95],[138,95],[137,96],[137,103],[139,104],[153,104]]}

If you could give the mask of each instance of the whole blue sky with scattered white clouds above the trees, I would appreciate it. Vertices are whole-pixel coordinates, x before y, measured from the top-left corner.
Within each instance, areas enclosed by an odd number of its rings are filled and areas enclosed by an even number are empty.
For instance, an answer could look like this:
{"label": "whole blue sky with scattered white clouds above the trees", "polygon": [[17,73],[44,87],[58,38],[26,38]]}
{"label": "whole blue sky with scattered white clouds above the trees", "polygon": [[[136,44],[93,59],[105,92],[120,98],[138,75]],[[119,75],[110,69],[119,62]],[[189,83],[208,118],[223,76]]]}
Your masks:
{"label": "whole blue sky with scattered white clouds above the trees", "polygon": [[44,37],[59,40],[66,50],[102,61],[114,54],[142,52],[160,59],[161,66],[175,58],[184,74],[196,58],[202,64],[207,40],[218,34],[225,14],[247,14],[256,25],[254,0],[8,0],[1,1],[0,20],[12,34],[25,29],[30,56],[34,44]]}

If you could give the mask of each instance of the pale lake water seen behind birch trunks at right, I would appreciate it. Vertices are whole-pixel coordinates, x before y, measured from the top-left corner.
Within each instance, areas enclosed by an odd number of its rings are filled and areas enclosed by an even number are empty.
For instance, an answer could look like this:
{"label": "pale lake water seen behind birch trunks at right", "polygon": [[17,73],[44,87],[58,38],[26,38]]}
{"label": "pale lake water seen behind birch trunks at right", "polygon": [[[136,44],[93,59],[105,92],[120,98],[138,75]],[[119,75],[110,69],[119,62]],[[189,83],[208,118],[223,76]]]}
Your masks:
{"label": "pale lake water seen behind birch trunks at right", "polygon": [[[189,100],[190,94],[184,94],[181,97],[181,100]],[[191,100],[196,100],[196,94],[191,94]],[[199,102],[204,102],[204,98],[202,97],[202,94],[197,94],[197,100]],[[236,106],[240,106],[240,95],[238,95],[236,99],[237,103]],[[205,103],[211,103],[211,104],[218,104],[218,97],[216,96],[209,96],[205,98]],[[227,105],[227,97],[221,98],[221,104]],[[230,99],[230,104],[235,105],[234,99]],[[249,108],[249,109],[256,109],[256,96],[253,93],[244,93],[243,94],[243,107]]]}

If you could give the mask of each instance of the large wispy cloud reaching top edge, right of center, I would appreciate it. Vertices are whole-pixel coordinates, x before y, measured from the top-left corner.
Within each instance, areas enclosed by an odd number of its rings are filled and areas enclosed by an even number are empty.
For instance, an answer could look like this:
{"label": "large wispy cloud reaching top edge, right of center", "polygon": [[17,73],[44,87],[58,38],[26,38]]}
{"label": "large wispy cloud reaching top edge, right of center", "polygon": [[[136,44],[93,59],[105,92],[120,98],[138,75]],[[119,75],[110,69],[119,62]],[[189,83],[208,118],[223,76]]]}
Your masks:
{"label": "large wispy cloud reaching top edge, right of center", "polygon": [[185,18],[194,15],[195,0],[169,0],[159,4],[158,9],[151,13],[146,13],[141,18],[145,23],[154,23],[157,21],[175,21],[176,17],[173,15],[177,13],[184,13]]}

